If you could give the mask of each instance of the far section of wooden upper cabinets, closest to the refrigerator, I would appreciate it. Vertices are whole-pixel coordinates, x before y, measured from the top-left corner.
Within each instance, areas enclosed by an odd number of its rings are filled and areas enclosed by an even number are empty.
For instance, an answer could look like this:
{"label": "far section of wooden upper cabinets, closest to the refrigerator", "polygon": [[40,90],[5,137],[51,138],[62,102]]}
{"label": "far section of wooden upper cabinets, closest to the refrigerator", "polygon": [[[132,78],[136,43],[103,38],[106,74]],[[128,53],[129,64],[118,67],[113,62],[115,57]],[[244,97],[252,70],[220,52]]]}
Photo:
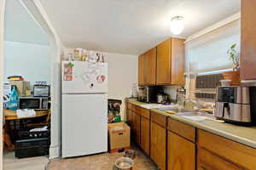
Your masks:
{"label": "far section of wooden upper cabinets, closest to the refrigerator", "polygon": [[138,84],[154,85],[156,76],[156,48],[141,54],[138,59]]}

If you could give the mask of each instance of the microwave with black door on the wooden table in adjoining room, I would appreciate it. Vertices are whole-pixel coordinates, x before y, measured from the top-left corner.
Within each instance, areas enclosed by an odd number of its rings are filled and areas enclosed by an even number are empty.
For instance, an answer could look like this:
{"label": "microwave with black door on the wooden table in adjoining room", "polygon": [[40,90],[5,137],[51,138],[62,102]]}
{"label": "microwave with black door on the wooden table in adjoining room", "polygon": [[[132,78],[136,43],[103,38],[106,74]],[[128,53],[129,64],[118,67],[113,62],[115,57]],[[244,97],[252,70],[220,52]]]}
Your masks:
{"label": "microwave with black door on the wooden table in adjoining room", "polygon": [[20,97],[19,109],[48,110],[48,101],[47,97]]}

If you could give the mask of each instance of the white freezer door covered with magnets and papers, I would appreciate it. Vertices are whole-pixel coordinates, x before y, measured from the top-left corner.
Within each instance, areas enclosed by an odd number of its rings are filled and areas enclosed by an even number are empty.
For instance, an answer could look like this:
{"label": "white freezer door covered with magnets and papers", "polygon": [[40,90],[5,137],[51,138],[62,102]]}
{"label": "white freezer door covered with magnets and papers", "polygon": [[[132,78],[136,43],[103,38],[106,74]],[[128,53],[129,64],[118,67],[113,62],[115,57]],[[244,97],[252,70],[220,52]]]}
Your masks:
{"label": "white freezer door covered with magnets and papers", "polygon": [[108,93],[108,64],[62,62],[62,94]]}

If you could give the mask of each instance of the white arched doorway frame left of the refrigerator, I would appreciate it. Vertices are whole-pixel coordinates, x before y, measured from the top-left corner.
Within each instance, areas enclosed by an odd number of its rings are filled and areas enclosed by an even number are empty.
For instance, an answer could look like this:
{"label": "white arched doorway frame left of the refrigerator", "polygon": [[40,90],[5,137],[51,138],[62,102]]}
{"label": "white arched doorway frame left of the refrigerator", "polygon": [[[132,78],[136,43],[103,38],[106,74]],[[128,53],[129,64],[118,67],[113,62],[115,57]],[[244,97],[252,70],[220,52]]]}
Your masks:
{"label": "white arched doorway frame left of the refrigerator", "polygon": [[[4,9],[6,0],[0,0],[0,116],[3,117],[3,48],[4,48]],[[20,0],[20,3],[31,14],[45,33],[49,36],[49,48],[51,54],[51,144],[49,158],[61,157],[61,56],[64,55],[64,46],[52,26],[44,7],[39,0]],[[3,120],[3,119],[2,119]],[[0,121],[3,127],[3,121]],[[3,134],[3,128],[0,133]],[[3,169],[3,135],[0,135],[0,170]]]}

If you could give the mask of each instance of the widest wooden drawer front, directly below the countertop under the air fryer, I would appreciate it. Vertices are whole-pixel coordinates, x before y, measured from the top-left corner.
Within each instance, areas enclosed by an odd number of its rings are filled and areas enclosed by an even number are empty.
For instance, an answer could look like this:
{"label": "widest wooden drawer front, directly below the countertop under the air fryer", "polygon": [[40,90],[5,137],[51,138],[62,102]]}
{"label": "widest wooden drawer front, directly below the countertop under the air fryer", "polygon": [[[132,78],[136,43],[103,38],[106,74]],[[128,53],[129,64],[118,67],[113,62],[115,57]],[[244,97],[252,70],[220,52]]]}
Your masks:
{"label": "widest wooden drawer front, directly below the countertop under the air fryer", "polygon": [[229,160],[246,169],[256,169],[256,150],[216,134],[198,130],[198,145],[201,148]]}

